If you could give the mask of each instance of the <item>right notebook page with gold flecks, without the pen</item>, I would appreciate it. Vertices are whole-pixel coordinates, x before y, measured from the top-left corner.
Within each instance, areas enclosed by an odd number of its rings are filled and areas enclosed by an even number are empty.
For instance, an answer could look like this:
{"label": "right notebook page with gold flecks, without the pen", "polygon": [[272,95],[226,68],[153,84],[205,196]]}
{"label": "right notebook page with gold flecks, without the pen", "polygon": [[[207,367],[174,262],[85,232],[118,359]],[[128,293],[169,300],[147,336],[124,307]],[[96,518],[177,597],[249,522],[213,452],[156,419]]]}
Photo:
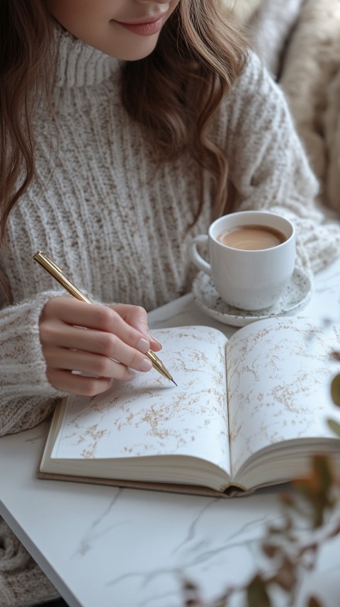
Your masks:
{"label": "right notebook page with gold flecks, without the pen", "polygon": [[290,439],[334,437],[331,351],[340,331],[307,318],[266,319],[237,331],[227,344],[232,472],[261,448]]}

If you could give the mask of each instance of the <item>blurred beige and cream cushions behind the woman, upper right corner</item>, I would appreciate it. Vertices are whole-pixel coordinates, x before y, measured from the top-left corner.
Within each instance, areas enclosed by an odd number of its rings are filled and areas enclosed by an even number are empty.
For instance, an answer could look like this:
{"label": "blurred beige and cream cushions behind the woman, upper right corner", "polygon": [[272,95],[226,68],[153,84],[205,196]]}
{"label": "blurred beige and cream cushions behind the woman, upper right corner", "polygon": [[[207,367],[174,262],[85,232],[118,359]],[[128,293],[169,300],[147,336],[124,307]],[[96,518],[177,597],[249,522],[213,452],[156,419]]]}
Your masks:
{"label": "blurred beige and cream cushions behind the woman, upper right corner", "polygon": [[220,0],[287,96],[319,178],[340,214],[340,0]]}

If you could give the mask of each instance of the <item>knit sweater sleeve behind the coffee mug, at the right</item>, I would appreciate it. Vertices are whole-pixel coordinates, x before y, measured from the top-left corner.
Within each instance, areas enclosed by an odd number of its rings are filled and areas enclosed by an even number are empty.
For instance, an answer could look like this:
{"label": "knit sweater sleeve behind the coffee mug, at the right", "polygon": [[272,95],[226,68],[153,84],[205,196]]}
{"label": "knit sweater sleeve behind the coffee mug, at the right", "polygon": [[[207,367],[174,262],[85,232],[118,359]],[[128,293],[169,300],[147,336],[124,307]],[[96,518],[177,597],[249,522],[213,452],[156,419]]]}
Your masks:
{"label": "knit sweater sleeve behind the coffee mug, at the right", "polygon": [[[256,55],[227,100],[225,142],[237,210],[271,210],[297,232],[297,261],[319,271],[340,252],[340,223],[325,218],[319,184],[280,88]],[[220,141],[220,144],[222,142]]]}

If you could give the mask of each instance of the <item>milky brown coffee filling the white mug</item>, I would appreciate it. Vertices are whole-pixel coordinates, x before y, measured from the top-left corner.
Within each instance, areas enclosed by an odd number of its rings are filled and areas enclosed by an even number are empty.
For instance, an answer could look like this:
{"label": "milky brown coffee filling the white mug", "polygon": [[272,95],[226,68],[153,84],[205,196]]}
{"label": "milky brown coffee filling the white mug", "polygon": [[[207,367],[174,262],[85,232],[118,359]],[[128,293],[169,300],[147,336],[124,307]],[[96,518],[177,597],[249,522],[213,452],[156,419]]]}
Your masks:
{"label": "milky brown coffee filling the white mug", "polygon": [[259,251],[271,249],[287,240],[279,229],[269,225],[240,225],[227,229],[217,236],[217,240],[233,249],[244,251]]}

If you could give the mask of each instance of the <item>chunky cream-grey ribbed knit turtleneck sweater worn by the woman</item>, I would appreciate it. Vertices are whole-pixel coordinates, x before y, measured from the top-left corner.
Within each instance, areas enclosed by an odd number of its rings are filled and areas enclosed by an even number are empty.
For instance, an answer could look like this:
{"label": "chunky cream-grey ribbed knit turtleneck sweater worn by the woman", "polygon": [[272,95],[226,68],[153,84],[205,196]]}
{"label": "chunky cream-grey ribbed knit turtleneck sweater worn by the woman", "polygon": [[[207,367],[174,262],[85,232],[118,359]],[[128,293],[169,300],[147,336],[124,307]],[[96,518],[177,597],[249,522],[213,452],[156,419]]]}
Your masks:
{"label": "chunky cream-grey ribbed knit turtleneck sweater worn by the woman", "polygon": [[[11,307],[3,302],[0,312],[0,434],[38,424],[63,396],[47,381],[38,335],[42,307],[62,291],[33,261],[35,251],[45,249],[96,300],[151,310],[190,289],[186,245],[210,222],[207,183],[202,215],[187,230],[199,169],[186,154],[154,165],[149,140],[120,103],[120,62],[60,30],[56,37],[57,142],[41,111],[35,123],[39,180],[11,213],[9,256],[0,259],[15,301]],[[223,103],[213,136],[227,153],[240,209],[290,217],[298,259],[313,271],[339,254],[339,225],[323,225],[314,203],[317,181],[283,94],[254,55]],[[11,568],[13,542],[1,523],[0,607],[52,598],[52,586],[41,572],[37,578],[21,548],[22,559]]]}

